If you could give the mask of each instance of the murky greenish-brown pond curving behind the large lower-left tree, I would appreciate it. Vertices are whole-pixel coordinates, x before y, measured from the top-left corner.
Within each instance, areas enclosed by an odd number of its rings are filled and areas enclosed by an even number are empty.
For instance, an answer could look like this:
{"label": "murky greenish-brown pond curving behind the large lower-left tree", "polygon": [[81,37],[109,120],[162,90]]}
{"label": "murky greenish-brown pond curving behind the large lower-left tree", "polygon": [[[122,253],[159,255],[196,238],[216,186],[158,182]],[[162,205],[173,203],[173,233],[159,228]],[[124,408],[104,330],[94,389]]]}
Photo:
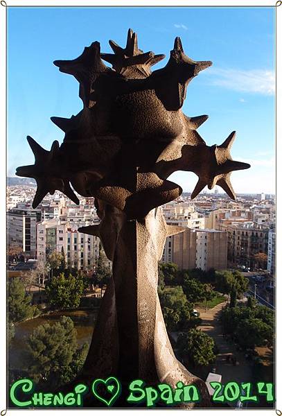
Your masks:
{"label": "murky greenish-brown pond curving behind the large lower-left tree", "polygon": [[90,345],[94,322],[97,312],[93,310],[58,311],[49,315],[42,315],[38,318],[20,322],[15,325],[15,338],[12,339],[8,350],[8,366],[10,370],[26,370],[26,357],[28,346],[26,340],[30,333],[39,325],[57,322],[62,316],[69,316],[73,320],[77,331],[78,345],[88,343]]}

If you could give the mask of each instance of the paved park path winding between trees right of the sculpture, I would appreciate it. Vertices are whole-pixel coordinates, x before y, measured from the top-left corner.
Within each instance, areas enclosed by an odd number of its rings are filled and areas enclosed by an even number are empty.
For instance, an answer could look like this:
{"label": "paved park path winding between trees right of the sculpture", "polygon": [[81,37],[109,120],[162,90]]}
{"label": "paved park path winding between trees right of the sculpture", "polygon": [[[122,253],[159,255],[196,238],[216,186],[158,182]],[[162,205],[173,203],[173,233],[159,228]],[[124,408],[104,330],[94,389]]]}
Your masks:
{"label": "paved park path winding between trees right of the sculpture", "polygon": [[[222,383],[227,383],[228,381],[236,381],[237,383],[252,381],[252,368],[249,365],[249,361],[245,360],[244,354],[238,352],[236,347],[231,344],[231,341],[228,342],[222,336],[219,316],[225,304],[225,302],[218,304],[207,312],[206,309],[198,308],[197,311],[200,312],[200,318],[202,318],[202,324],[198,329],[208,333],[218,346],[219,354],[215,362],[215,372],[222,375]],[[227,361],[227,354],[236,356],[236,366]]]}

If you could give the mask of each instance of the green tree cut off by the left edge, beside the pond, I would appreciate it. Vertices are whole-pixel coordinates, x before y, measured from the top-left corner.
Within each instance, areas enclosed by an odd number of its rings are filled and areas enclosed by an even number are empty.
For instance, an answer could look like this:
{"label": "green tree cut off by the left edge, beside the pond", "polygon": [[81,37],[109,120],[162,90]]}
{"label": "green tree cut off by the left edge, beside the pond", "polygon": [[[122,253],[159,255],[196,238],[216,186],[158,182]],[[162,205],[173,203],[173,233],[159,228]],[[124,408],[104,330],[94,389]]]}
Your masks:
{"label": "green tree cut off by the left edge, beside the pond", "polygon": [[8,320],[19,322],[32,318],[37,311],[31,305],[31,296],[26,294],[24,284],[19,277],[11,277],[8,281]]}

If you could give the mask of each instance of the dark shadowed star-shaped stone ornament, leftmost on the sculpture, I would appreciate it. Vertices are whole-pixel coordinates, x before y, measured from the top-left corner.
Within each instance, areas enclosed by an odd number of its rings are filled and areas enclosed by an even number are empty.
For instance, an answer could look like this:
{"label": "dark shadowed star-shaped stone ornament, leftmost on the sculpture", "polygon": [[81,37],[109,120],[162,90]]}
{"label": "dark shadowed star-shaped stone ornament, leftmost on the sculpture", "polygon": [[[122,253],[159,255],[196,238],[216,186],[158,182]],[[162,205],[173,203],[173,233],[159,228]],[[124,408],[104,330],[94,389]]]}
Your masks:
{"label": "dark shadowed star-shaped stone ornament, leftmost on the sculpture", "polygon": [[43,200],[47,193],[53,194],[56,189],[62,191],[77,205],[78,197],[70,187],[67,177],[60,177],[58,169],[59,143],[54,141],[51,150],[45,150],[32,137],[28,136],[28,144],[35,156],[35,164],[20,166],[17,168],[16,175],[33,177],[37,183],[37,191],[33,199],[33,208]]}

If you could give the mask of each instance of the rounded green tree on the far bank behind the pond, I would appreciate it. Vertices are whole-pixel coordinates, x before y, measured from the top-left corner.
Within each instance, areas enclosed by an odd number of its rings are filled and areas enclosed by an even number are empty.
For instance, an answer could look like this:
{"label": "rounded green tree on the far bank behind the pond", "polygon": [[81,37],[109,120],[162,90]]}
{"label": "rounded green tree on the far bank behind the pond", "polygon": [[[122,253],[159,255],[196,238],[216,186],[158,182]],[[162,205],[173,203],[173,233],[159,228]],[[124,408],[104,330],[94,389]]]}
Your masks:
{"label": "rounded green tree on the far bank behind the pond", "polygon": [[49,304],[55,309],[76,309],[85,291],[85,278],[81,274],[66,277],[60,273],[48,281],[45,290]]}

